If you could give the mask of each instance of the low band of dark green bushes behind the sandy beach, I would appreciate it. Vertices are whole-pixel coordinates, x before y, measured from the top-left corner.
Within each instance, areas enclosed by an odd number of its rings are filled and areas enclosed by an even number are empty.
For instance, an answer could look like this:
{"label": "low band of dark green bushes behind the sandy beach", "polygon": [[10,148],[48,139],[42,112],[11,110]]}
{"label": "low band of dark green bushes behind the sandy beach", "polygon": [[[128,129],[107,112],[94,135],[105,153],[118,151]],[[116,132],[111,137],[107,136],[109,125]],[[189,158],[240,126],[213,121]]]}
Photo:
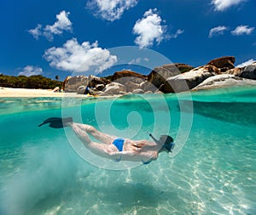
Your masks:
{"label": "low band of dark green bushes behind the sandy beach", "polygon": [[0,87],[4,88],[61,88],[62,82],[44,76],[6,76],[0,74]]}

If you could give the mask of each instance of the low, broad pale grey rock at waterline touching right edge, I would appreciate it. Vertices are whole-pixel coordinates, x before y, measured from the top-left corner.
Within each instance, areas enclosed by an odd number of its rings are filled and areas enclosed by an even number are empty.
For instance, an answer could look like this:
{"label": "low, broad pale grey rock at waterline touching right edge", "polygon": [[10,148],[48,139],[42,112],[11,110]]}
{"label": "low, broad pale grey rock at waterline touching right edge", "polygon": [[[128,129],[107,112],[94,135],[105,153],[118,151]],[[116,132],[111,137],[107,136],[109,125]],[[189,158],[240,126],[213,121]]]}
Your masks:
{"label": "low, broad pale grey rock at waterline touching right edge", "polygon": [[218,76],[211,76],[207,78],[204,82],[201,82],[196,88],[192,90],[201,90],[201,89],[212,89],[212,88],[227,88],[233,86],[247,86],[255,85],[256,81],[248,80],[238,76],[223,74]]}

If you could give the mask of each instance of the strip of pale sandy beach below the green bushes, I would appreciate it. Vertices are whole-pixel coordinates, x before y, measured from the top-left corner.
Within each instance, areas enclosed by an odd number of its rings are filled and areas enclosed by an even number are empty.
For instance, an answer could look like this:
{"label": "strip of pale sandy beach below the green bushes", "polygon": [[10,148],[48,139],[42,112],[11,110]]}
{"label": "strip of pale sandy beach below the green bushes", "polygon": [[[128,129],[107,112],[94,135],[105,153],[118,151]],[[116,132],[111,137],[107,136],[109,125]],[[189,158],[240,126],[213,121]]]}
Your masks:
{"label": "strip of pale sandy beach below the green bushes", "polygon": [[52,89],[26,89],[26,88],[0,88],[0,98],[2,97],[84,97],[77,93],[60,93]]}

